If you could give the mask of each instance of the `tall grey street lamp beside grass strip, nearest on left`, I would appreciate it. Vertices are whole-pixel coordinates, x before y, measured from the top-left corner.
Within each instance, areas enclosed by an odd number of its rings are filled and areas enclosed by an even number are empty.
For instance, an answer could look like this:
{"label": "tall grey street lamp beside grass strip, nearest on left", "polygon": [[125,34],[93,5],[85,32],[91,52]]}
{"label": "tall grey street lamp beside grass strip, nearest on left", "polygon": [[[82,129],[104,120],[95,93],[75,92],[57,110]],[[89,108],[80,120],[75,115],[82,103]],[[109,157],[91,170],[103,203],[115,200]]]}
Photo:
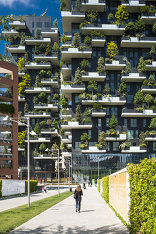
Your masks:
{"label": "tall grey street lamp beside grass strip, nearest on left", "polygon": [[[27,127],[27,167],[28,167],[28,171],[27,171],[27,179],[28,179],[28,208],[30,208],[30,134],[31,135],[36,135],[36,133],[34,131],[31,131],[30,133],[30,118],[27,117],[23,117],[24,120],[27,120],[27,124],[23,124]],[[4,117],[3,121],[8,122],[8,121],[12,121],[12,122],[16,122],[18,124],[20,124],[21,122],[14,120],[13,118],[10,118],[8,115],[6,117]]]}

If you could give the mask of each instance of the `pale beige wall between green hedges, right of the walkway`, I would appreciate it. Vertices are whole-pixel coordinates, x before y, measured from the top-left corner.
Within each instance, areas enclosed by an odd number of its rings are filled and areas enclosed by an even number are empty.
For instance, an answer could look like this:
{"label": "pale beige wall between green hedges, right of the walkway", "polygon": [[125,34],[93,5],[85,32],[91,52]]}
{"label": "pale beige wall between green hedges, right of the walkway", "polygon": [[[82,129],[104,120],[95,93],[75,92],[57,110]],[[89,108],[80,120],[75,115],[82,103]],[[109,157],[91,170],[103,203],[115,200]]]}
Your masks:
{"label": "pale beige wall between green hedges, right of the walkway", "polygon": [[113,173],[109,177],[109,203],[128,222],[129,212],[129,181],[127,169]]}

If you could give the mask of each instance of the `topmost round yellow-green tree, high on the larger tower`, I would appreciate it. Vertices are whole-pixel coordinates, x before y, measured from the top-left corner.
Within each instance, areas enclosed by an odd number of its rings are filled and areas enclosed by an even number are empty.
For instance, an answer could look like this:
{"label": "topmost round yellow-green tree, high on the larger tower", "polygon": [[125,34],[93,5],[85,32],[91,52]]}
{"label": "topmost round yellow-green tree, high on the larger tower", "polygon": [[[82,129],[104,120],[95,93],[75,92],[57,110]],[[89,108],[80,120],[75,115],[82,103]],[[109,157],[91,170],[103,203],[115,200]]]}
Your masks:
{"label": "topmost round yellow-green tree, high on the larger tower", "polygon": [[128,16],[129,16],[129,13],[128,13],[126,7],[123,5],[119,5],[117,7],[117,11],[115,13],[115,18],[117,20],[117,23],[118,24],[123,23],[125,20],[128,19]]}

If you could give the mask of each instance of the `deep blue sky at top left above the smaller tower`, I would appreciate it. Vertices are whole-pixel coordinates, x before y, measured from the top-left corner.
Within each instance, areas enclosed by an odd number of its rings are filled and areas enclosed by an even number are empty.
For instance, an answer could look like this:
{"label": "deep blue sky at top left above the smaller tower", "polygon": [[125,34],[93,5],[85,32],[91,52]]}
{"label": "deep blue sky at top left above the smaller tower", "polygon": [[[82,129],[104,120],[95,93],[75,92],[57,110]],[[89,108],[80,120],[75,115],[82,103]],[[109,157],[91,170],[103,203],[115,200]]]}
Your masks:
{"label": "deep blue sky at top left above the smaller tower", "polygon": [[[40,16],[48,8],[47,15],[58,19],[61,28],[60,0],[0,0],[0,15]],[[4,43],[0,42],[0,53],[4,53]]]}

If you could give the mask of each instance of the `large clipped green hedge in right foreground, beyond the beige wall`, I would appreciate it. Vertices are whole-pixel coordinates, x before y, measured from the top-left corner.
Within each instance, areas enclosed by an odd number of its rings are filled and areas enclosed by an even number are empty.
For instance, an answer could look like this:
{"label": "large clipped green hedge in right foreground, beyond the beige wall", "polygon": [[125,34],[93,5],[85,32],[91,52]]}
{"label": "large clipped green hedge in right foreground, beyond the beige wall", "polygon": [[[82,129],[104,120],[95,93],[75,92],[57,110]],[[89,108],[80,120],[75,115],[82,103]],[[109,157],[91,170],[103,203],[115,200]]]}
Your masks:
{"label": "large clipped green hedge in right foreground, beyond the beige wall", "polygon": [[131,233],[156,233],[156,159],[128,165]]}

